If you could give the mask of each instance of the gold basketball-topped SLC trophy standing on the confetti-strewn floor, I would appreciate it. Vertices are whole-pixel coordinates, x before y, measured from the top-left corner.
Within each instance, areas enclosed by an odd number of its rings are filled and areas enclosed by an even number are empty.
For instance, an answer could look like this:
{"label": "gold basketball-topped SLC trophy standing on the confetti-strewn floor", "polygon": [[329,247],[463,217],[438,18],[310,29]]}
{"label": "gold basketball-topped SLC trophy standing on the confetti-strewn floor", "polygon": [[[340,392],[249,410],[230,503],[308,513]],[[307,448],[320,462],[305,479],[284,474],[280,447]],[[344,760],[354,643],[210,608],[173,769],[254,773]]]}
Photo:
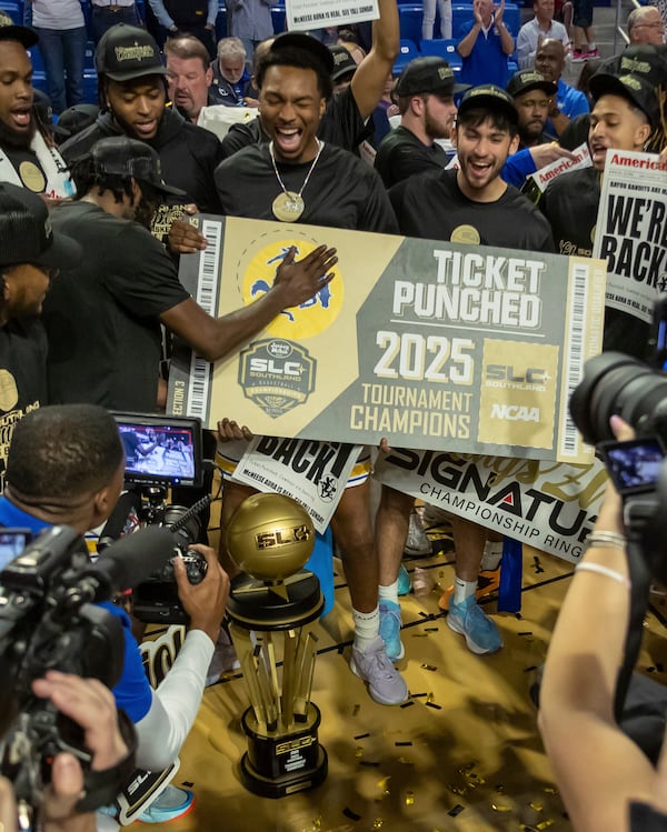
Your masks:
{"label": "gold basketball-topped SLC trophy standing on the confetti-strewn floor", "polygon": [[249,497],[227,530],[227,551],[241,570],[231,581],[229,631],[250,696],[241,781],[265,798],[310,789],[327,774],[320,712],[310,701],[317,636],[307,630],[325,601],[317,575],[302,568],[313,545],[308,512],[283,494]]}

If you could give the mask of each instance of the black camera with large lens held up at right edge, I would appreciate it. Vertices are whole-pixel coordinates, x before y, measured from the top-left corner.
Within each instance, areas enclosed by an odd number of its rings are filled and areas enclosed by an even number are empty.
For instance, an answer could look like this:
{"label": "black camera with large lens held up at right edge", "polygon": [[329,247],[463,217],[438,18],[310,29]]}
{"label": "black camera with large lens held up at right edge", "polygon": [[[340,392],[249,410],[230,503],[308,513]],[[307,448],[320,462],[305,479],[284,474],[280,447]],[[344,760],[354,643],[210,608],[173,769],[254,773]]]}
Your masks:
{"label": "black camera with large lens held up at right edge", "polygon": [[[650,363],[620,352],[603,352],[586,362],[570,399],[573,421],[596,445],[624,498],[628,535],[651,575],[667,583],[667,302],[654,312],[656,349]],[[620,415],[637,439],[617,442],[609,419]]]}

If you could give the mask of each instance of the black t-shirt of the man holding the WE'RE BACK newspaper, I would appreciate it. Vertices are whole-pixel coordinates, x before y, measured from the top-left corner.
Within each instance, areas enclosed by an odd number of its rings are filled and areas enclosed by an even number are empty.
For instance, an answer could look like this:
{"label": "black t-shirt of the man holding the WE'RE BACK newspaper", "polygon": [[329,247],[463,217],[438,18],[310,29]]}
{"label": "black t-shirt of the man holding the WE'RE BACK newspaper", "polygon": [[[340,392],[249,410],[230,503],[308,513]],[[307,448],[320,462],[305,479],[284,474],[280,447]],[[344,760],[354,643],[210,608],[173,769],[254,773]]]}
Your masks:
{"label": "black t-shirt of the man holding the WE'RE BACK newspaper", "polygon": [[[599,202],[600,174],[595,168],[571,170],[549,182],[539,208],[561,254],[591,257]],[[603,350],[618,350],[644,360],[649,337],[649,323],[618,309],[605,309]]]}

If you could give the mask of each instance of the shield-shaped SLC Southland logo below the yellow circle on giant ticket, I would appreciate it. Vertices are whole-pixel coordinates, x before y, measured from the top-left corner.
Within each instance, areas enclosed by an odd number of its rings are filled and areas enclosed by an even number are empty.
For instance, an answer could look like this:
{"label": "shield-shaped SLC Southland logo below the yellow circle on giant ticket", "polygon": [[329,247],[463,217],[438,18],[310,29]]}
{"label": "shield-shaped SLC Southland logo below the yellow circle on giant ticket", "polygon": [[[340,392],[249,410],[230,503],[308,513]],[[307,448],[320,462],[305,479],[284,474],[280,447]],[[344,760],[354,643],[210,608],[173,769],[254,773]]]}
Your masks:
{"label": "shield-shaped SLC Southland logo below the yellow circle on giant ticket", "polygon": [[316,361],[303,347],[269,339],[241,352],[238,379],[246,398],[277,419],[307,401],[315,390],[315,370]]}

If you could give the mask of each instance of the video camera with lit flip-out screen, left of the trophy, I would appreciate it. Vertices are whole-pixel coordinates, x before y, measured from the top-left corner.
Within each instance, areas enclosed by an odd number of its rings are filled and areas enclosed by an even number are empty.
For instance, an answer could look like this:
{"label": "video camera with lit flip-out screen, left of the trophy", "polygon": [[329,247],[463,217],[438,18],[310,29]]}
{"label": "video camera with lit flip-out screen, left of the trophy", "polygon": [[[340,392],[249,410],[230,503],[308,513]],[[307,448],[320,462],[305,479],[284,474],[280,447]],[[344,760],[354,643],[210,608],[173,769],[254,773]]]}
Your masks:
{"label": "video camera with lit flip-out screen, left of the trophy", "polygon": [[[100,538],[100,549],[123,533],[129,517],[141,525],[160,525],[173,535],[173,554],[180,554],[190,583],[200,583],[206,559],[190,545],[199,539],[199,515],[210,495],[190,508],[167,503],[169,489],[200,488],[203,480],[201,422],[196,418],[113,413],[126,450],[128,492],[119,501]],[[171,561],[135,588],[132,612],[140,621],[187,624]]]}

